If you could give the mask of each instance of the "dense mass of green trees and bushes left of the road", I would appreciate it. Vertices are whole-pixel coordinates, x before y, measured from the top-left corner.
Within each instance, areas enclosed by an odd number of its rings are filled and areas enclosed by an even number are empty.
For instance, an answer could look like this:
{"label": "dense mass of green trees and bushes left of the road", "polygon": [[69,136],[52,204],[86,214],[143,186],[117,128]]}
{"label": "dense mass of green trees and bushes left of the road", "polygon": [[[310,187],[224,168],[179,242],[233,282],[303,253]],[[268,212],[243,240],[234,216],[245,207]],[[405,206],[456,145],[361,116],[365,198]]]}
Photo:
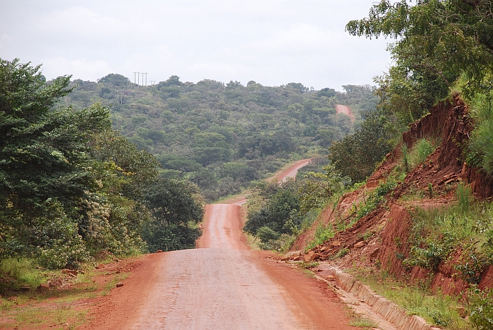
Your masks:
{"label": "dense mass of green trees and bushes left of the road", "polygon": [[[155,232],[173,241],[167,250],[193,246],[197,189],[157,180],[159,163],[111,129],[109,109],[63,106],[69,77],[46,82],[39,69],[0,60],[0,259],[77,268],[101,251],[146,250],[149,228],[151,246]],[[129,85],[120,75],[101,83]]]}

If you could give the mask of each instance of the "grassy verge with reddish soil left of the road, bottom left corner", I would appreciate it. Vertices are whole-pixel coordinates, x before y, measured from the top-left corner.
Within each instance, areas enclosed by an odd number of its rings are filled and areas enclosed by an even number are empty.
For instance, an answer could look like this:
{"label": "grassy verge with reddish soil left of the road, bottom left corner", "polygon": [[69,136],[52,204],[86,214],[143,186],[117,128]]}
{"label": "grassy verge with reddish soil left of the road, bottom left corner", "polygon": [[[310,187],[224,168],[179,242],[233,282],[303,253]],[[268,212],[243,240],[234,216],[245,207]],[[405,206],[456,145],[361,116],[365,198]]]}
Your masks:
{"label": "grassy verge with reddish soil left of the road, bottom left corner", "polygon": [[[34,288],[48,278],[55,281],[56,278],[66,277],[60,271],[40,270],[27,259],[6,259],[0,264],[0,271],[2,283],[8,278],[9,281],[16,281],[18,287],[28,284]],[[128,276],[127,273],[106,274],[107,281],[100,286],[92,281],[96,275],[105,275],[105,272],[96,273],[92,265],[83,265],[83,273],[72,278],[72,286],[67,289],[46,292],[34,289],[12,292],[12,288],[6,289],[6,294],[0,297],[0,329],[76,329],[85,321],[87,310],[75,308],[74,302],[105,296],[116,283]],[[12,295],[17,296],[17,299],[8,300],[7,297]]]}

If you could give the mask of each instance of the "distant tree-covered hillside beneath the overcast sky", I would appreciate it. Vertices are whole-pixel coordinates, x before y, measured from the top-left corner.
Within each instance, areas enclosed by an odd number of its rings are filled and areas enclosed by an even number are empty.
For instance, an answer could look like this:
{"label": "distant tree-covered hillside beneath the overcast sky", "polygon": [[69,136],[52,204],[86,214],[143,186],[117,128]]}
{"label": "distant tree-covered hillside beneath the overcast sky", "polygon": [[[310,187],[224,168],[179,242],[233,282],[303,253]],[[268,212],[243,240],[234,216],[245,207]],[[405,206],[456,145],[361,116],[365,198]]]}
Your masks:
{"label": "distant tree-covered hillside beneath the overcast sky", "polygon": [[[193,181],[208,201],[241,191],[292,157],[325,155],[377,103],[372,87],[355,85],[344,86],[341,93],[300,83],[182,83],[171,76],[157,85],[138,86],[109,74],[97,83],[74,80],[71,86],[65,104],[109,107],[113,128],[153,153],[161,175]],[[335,104],[351,107],[354,125],[336,113]]]}

